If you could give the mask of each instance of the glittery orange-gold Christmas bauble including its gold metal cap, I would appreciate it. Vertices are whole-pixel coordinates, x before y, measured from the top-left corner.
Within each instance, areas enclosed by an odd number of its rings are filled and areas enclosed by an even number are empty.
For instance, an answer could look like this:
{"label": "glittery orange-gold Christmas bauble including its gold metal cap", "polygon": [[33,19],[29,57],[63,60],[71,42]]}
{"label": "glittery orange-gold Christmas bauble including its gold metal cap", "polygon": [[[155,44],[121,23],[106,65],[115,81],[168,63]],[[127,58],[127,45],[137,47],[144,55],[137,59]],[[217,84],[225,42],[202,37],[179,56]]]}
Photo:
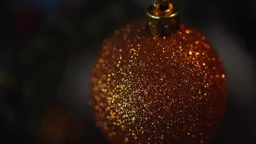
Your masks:
{"label": "glittery orange-gold Christmas bauble including its gold metal cap", "polygon": [[111,143],[205,143],[223,116],[223,65],[206,38],[155,1],[106,39],[92,71],[96,125]]}

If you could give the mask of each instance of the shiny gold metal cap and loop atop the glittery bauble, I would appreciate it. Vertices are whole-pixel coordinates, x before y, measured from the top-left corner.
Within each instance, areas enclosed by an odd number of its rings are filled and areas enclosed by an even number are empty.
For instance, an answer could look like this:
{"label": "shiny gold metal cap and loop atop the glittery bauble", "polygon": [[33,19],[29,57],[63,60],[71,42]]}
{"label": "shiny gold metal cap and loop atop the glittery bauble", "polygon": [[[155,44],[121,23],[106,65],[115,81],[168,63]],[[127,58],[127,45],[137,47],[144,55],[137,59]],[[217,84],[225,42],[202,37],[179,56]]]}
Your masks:
{"label": "shiny gold metal cap and loop atop the glittery bauble", "polygon": [[172,0],[155,0],[147,10],[147,23],[154,37],[170,36],[177,31],[179,11]]}

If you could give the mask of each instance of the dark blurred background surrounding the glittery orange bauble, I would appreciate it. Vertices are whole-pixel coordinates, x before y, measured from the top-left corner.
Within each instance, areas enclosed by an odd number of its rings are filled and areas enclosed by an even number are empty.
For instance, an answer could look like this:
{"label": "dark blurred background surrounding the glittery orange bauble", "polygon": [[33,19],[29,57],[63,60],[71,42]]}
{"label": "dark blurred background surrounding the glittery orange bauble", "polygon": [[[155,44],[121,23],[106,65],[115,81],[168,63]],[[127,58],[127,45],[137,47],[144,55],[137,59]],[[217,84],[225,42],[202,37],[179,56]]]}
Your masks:
{"label": "dark blurred background surrounding the glittery orange bauble", "polygon": [[[102,41],[150,0],[1,0],[0,143],[106,143],[88,104]],[[209,143],[256,140],[255,1],[176,0],[223,58],[229,98]],[[251,33],[253,34],[253,33]]]}

